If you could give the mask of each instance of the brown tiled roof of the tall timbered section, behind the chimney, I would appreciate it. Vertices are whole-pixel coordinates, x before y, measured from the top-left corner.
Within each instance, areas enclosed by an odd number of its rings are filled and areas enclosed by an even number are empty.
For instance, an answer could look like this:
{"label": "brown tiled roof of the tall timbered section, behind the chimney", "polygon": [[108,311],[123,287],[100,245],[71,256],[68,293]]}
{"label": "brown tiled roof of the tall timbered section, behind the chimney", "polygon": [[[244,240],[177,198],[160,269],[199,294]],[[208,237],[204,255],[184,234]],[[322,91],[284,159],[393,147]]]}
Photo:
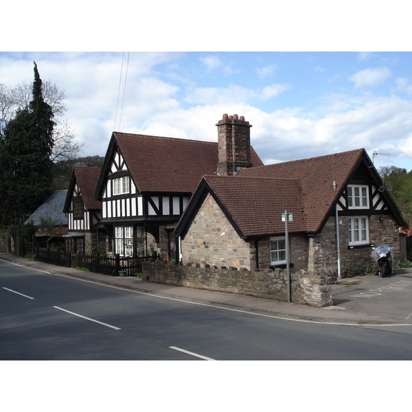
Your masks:
{"label": "brown tiled roof of the tall timbered section, behind the chimney", "polygon": [[[113,133],[140,192],[194,192],[213,174],[218,144],[209,141]],[[263,165],[251,148],[253,165]]]}

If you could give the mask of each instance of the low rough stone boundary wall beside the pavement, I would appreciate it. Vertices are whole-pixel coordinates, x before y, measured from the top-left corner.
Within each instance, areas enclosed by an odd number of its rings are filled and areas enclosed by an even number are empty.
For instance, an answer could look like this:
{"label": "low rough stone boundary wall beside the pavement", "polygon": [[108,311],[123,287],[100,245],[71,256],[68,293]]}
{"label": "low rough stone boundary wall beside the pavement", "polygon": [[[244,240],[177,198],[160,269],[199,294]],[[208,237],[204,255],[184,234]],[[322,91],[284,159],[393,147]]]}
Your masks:
{"label": "low rough stone boundary wall beside the pavement", "polygon": [[[142,275],[150,282],[288,301],[286,271],[279,268],[248,271],[246,268],[143,262]],[[299,271],[291,273],[290,279],[293,303],[317,308],[333,305],[331,286],[325,277]]]}

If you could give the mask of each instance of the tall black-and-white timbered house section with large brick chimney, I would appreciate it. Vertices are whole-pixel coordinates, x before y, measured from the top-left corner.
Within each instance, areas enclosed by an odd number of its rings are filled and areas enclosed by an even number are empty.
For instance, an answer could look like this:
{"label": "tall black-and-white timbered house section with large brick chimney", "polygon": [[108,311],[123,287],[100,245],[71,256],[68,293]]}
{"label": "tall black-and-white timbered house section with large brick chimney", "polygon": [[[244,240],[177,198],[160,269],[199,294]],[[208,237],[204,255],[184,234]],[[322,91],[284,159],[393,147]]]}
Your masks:
{"label": "tall black-and-white timbered house section with large brick chimney", "polygon": [[93,196],[113,253],[178,260],[173,231],[203,174],[263,165],[250,146],[249,122],[224,117],[217,143],[113,132]]}

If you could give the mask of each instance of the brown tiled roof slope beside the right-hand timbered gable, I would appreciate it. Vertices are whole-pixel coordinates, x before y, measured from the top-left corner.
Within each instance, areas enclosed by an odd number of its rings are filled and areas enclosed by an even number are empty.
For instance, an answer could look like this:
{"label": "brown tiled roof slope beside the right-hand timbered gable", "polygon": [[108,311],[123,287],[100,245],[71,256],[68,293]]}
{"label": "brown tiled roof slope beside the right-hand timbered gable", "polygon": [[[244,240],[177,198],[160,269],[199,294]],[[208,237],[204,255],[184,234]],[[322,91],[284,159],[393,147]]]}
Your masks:
{"label": "brown tiled roof slope beside the right-hand timbered gable", "polygon": [[[302,205],[306,214],[306,231],[316,232],[362,156],[367,157],[364,149],[351,150],[335,155],[243,169],[239,176],[299,179]],[[334,181],[336,190],[333,188]],[[282,201],[282,198],[279,200]]]}

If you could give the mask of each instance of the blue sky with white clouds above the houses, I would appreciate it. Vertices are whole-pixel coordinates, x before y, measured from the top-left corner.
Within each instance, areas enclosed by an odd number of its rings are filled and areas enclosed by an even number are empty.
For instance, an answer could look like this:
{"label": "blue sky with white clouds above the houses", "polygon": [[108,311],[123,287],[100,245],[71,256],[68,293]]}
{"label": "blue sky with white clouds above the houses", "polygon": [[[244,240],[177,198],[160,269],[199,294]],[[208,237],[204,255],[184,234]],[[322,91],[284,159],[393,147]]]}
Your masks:
{"label": "blue sky with white clouds above the houses", "polygon": [[228,113],[264,163],[365,148],[412,167],[411,52],[1,52],[0,82],[32,82],[34,60],[84,156],[113,130],[217,141]]}

